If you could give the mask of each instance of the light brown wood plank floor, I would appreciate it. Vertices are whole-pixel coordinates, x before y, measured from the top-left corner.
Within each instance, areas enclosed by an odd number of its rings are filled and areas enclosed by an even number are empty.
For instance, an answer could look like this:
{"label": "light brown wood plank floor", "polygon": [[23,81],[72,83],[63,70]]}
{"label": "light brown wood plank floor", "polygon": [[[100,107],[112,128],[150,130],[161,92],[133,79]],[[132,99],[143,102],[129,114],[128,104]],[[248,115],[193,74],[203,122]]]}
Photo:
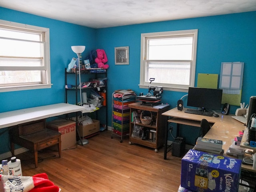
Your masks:
{"label": "light brown wood plank floor", "polygon": [[[171,152],[164,160],[163,148],[137,144],[129,138],[114,136],[111,131],[89,138],[89,144],[58,152],[44,150],[34,168],[33,153],[18,155],[23,176],[45,172],[63,192],[177,192],[180,186],[181,158]],[[52,157],[56,155],[56,157]]]}

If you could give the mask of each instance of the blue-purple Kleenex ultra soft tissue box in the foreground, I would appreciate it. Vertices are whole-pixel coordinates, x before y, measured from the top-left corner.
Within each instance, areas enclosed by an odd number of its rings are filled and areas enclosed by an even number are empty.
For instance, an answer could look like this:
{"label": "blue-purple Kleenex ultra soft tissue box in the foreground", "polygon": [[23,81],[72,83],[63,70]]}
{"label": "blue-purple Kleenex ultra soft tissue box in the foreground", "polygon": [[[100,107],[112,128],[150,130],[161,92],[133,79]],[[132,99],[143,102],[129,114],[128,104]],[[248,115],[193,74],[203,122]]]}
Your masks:
{"label": "blue-purple Kleenex ultra soft tissue box in the foreground", "polygon": [[200,192],[238,192],[242,161],[189,150],[181,160],[180,186]]}

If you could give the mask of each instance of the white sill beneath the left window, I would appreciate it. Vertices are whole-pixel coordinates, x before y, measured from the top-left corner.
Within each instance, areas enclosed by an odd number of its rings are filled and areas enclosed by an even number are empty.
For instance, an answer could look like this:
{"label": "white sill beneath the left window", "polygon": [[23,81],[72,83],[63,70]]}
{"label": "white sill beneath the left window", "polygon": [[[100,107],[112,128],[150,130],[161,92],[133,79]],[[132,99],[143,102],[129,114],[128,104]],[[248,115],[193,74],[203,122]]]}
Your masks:
{"label": "white sill beneath the left window", "polygon": [[52,84],[0,87],[0,92],[23,91],[23,90],[33,90],[33,89],[47,89],[47,88],[52,88]]}

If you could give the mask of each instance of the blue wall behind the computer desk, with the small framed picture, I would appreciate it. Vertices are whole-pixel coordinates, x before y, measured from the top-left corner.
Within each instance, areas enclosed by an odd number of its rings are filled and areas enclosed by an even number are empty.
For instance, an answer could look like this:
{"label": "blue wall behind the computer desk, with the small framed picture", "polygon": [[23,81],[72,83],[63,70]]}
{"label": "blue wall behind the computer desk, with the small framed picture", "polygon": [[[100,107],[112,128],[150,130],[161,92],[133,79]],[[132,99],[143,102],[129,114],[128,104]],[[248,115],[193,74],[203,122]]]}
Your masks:
{"label": "blue wall behind the computer desk, with the small framed picture", "polygon": [[[133,89],[137,94],[148,92],[138,87],[141,33],[198,29],[196,74],[220,74],[221,62],[244,62],[241,101],[249,103],[250,96],[256,95],[255,20],[256,12],[246,12],[98,29],[98,46],[106,50],[110,65],[108,98],[117,89]],[[114,47],[118,46],[129,46],[130,65],[114,65]],[[196,84],[197,77],[195,86]],[[164,91],[162,102],[169,103],[173,108],[184,94],[186,93]],[[184,103],[186,104],[186,98]],[[230,113],[234,114],[237,108],[238,106],[231,106]],[[111,114],[111,108],[108,108],[108,113]],[[195,136],[198,136],[199,130],[197,131]],[[190,143],[194,142],[194,138],[188,138],[188,134],[192,133],[191,128],[181,129],[181,135]]]}

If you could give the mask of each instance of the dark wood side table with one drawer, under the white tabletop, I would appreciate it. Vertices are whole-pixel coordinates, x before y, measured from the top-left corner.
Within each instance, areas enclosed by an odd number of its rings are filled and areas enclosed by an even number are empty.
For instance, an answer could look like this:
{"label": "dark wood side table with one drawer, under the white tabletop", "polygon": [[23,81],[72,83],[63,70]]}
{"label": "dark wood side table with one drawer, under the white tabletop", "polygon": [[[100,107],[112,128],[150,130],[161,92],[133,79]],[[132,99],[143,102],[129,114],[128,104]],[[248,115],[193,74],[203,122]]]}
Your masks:
{"label": "dark wood side table with one drawer, under the white tabletop", "polygon": [[59,157],[61,157],[61,134],[47,129],[45,119],[12,126],[9,133],[12,156],[14,156],[15,143],[32,150],[34,151],[36,168],[38,166],[38,150],[58,144]]}

